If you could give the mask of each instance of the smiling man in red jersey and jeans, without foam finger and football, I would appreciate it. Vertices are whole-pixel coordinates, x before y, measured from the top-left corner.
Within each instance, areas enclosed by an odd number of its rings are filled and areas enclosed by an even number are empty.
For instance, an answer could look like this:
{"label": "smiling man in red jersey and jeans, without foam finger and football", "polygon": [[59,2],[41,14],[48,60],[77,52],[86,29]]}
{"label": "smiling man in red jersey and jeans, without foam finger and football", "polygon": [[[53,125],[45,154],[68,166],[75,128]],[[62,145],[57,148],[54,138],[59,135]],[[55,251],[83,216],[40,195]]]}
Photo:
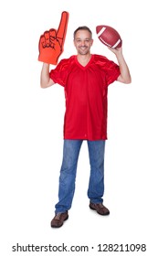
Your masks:
{"label": "smiling man in red jersey and jeans, without foam finger and football", "polygon": [[103,56],[90,53],[93,44],[89,27],[78,27],[74,32],[77,55],[62,59],[56,69],[49,72],[44,63],[41,87],[55,83],[65,89],[66,113],[64,119],[63,161],[59,176],[58,203],[52,228],[59,228],[68,219],[75,191],[79,150],[84,140],[90,155],[90,208],[100,215],[110,211],[103,205],[104,148],[107,139],[107,91],[113,81],[131,83],[131,75],[122,55],[122,48],[109,48],[119,65]]}

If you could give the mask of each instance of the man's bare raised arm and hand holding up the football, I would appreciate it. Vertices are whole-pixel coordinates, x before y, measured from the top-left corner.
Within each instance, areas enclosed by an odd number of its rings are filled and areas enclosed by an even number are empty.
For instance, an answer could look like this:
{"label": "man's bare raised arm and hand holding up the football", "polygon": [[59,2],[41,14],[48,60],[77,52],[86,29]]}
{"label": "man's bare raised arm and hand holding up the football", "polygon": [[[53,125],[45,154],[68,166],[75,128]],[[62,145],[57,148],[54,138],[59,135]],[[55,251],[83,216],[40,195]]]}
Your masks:
{"label": "man's bare raised arm and hand holding up the football", "polygon": [[127,63],[122,54],[122,48],[109,48],[115,55],[118,60],[118,64],[121,70],[121,75],[118,77],[118,81],[122,83],[131,83],[132,77],[130,74],[130,70],[127,66]]}

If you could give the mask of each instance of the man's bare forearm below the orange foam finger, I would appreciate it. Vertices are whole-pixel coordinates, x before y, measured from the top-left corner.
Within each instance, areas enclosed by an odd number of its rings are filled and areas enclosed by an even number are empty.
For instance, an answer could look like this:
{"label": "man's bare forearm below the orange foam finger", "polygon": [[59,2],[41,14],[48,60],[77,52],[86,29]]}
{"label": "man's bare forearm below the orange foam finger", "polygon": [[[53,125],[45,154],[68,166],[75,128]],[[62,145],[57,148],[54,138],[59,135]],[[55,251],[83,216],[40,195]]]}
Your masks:
{"label": "man's bare forearm below the orange foam finger", "polygon": [[49,64],[43,63],[40,74],[40,86],[41,88],[47,88],[53,84],[55,84],[55,82],[49,78]]}

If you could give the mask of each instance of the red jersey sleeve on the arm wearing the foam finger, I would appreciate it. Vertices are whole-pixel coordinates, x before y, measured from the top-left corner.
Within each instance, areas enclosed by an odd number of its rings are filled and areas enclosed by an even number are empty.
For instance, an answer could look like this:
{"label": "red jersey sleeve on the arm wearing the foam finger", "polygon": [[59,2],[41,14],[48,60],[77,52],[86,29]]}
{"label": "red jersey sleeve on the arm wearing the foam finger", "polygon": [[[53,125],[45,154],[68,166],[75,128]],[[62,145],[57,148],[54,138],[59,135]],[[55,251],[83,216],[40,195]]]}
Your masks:
{"label": "red jersey sleeve on the arm wearing the foam finger", "polygon": [[62,59],[56,69],[50,71],[49,77],[61,86],[65,86],[68,77],[68,59]]}

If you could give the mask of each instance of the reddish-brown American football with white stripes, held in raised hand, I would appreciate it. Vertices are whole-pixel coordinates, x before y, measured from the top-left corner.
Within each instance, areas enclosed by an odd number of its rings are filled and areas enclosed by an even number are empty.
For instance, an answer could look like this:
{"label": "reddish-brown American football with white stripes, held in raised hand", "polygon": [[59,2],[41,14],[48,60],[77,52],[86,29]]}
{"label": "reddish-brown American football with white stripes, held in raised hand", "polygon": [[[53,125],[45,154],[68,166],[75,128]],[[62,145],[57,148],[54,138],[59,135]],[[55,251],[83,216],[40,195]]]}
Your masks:
{"label": "reddish-brown American football with white stripes, held in raised hand", "polygon": [[113,27],[100,25],[96,27],[96,32],[102,44],[110,48],[121,48],[121,36]]}

